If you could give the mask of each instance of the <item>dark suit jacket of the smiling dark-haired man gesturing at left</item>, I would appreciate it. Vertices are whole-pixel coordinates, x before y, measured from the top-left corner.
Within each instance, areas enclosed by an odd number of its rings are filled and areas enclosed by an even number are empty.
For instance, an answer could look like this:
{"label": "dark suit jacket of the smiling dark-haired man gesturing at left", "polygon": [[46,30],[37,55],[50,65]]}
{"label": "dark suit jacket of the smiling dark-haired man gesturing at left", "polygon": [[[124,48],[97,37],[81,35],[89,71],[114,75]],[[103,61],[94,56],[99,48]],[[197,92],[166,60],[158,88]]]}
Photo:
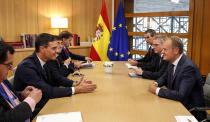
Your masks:
{"label": "dark suit jacket of the smiling dark-haired man gesturing at left", "polygon": [[14,87],[22,91],[26,86],[34,86],[42,90],[43,98],[59,98],[72,95],[70,87],[54,87],[49,79],[53,79],[50,73],[43,70],[35,53],[25,58],[17,67],[14,78]]}

